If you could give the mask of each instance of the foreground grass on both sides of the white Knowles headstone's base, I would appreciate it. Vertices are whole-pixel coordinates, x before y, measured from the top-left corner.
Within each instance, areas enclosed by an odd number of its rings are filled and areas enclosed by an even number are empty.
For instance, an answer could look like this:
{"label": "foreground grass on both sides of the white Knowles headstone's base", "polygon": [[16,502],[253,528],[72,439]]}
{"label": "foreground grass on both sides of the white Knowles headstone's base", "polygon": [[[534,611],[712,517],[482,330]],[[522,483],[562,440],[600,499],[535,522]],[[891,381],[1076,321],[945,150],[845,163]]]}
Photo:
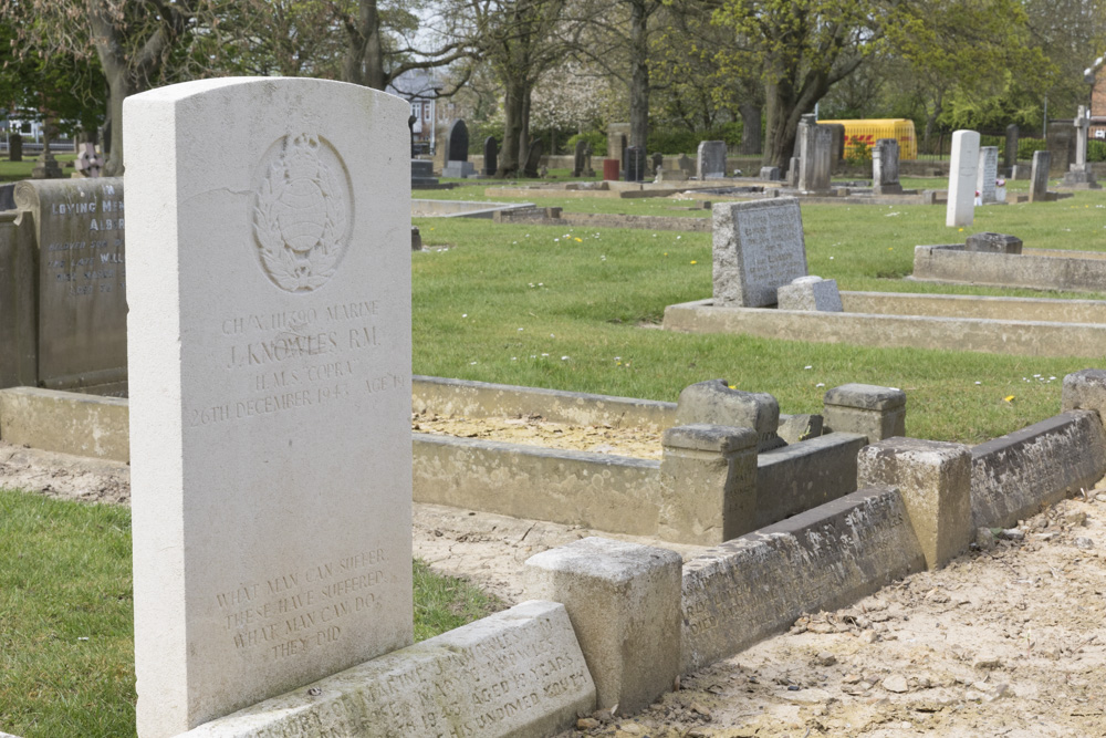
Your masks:
{"label": "foreground grass on both sides of the white Knowles headstone's base", "polygon": [[[131,510],[0,488],[0,731],[135,735]],[[415,562],[415,640],[503,604]]]}

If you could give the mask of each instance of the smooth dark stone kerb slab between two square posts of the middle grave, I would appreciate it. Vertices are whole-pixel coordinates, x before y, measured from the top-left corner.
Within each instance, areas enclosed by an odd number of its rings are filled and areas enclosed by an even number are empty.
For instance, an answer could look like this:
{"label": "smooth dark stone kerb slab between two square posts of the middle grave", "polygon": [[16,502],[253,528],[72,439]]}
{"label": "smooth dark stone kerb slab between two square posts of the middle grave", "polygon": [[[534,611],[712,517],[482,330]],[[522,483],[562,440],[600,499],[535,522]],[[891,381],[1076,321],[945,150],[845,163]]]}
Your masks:
{"label": "smooth dark stone kerb slab between two square posts of the middle grave", "polygon": [[856,454],[868,443],[831,433],[757,457],[755,528],[770,526],[856,491]]}

